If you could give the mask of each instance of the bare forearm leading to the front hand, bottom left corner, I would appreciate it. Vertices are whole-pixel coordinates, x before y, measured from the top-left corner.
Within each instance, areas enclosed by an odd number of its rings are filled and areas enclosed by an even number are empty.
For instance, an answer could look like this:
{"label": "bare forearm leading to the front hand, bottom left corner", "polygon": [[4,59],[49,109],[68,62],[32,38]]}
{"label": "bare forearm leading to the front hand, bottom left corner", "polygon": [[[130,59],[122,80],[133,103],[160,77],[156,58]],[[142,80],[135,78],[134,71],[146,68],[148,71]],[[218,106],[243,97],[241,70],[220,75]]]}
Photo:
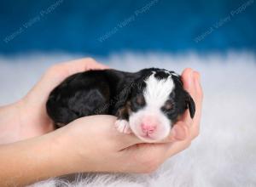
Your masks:
{"label": "bare forearm leading to the front hand, bottom left corner", "polygon": [[[0,185],[32,184],[68,173],[63,153],[55,146],[55,134],[0,146]],[[23,172],[24,169],[26,172]]]}

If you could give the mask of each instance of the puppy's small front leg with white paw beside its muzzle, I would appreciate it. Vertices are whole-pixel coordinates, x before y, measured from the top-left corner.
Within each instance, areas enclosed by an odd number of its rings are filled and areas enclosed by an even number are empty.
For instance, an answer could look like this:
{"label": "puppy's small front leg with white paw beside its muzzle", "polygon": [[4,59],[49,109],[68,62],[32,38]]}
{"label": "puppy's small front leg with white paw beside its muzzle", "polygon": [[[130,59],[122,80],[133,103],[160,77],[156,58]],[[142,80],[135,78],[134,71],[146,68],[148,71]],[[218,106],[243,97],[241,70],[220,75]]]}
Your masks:
{"label": "puppy's small front leg with white paw beside its muzzle", "polygon": [[120,133],[131,133],[131,128],[129,125],[129,110],[127,106],[124,106],[117,111],[118,117],[117,121],[114,123],[114,126]]}

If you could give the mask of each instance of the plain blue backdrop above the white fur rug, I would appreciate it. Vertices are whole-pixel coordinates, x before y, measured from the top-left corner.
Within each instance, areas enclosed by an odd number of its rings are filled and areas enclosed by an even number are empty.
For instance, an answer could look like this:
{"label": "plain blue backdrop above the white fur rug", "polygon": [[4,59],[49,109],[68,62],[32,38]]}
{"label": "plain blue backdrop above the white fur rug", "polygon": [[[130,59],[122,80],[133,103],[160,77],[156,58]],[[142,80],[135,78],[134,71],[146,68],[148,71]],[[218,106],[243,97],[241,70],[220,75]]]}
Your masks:
{"label": "plain blue backdrop above the white fur rug", "polygon": [[255,0],[9,0],[0,53],[256,49]]}

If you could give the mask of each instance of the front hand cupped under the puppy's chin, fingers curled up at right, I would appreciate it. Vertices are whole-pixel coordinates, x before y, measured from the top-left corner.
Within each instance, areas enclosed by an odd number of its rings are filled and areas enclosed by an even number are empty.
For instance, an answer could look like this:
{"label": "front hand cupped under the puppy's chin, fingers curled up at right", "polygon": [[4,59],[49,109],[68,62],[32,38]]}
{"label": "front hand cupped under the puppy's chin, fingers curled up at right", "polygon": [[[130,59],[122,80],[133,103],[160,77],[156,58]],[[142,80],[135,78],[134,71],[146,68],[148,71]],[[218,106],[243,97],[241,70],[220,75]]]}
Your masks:
{"label": "front hand cupped under the puppy's chin, fingers curled up at right", "polygon": [[62,147],[60,152],[66,156],[67,167],[73,168],[73,172],[148,173],[186,149],[199,133],[202,90],[197,72],[186,69],[182,77],[184,88],[195,100],[193,120],[186,111],[168,139],[158,144],[144,144],[133,134],[117,132],[113,127],[114,116],[80,118],[55,131],[59,134],[55,142],[60,142],[57,147]]}

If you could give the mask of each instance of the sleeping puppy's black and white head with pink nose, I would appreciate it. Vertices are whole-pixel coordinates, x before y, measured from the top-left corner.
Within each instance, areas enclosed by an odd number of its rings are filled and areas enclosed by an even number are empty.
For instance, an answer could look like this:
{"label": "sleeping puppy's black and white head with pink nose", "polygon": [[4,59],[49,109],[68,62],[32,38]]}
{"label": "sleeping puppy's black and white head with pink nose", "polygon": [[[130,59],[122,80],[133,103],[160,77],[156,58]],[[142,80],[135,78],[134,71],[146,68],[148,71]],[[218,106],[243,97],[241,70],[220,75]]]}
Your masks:
{"label": "sleeping puppy's black and white head with pink nose", "polygon": [[183,89],[181,77],[173,71],[148,69],[131,88],[129,124],[133,133],[146,142],[165,139],[179,116],[195,103]]}

